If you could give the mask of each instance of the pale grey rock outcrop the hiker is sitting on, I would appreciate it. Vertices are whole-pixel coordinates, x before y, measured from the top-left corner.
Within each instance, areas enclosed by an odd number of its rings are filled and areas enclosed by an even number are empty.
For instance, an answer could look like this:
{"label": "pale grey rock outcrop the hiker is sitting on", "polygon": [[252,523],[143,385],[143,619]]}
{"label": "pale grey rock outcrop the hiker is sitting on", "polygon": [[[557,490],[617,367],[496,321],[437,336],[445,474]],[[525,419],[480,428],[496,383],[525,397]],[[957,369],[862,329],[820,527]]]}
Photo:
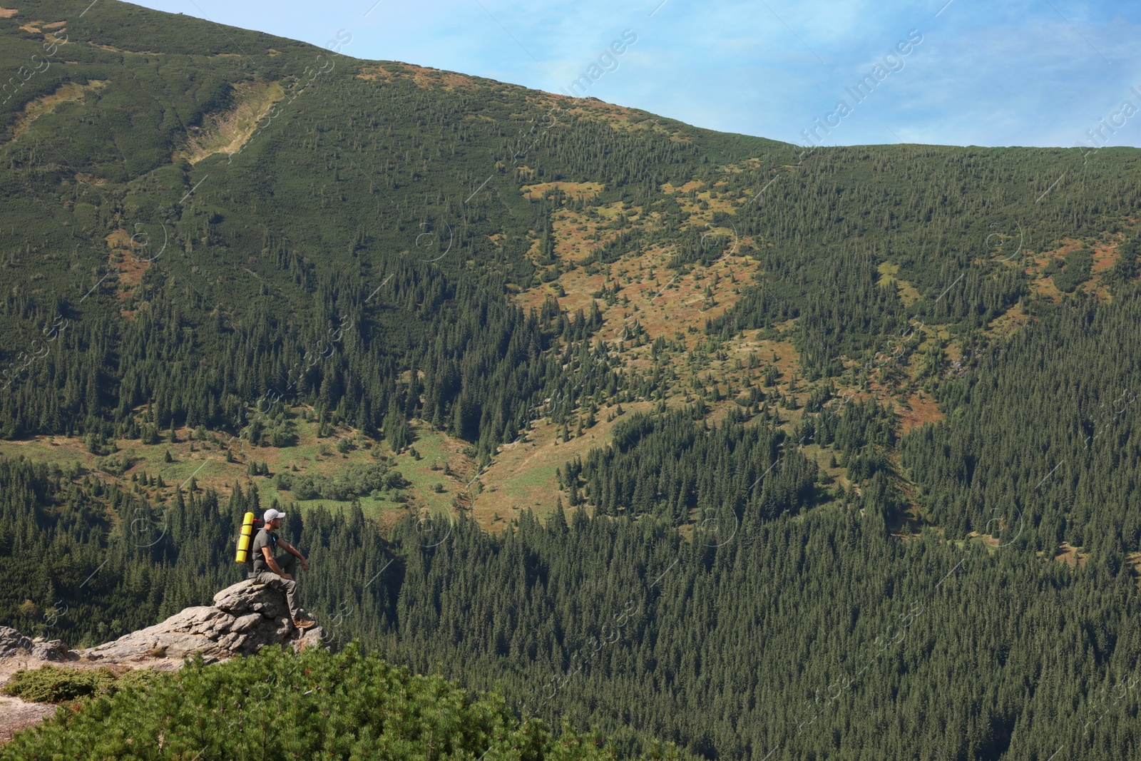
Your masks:
{"label": "pale grey rock outcrop the hiker is sitting on", "polygon": [[267,645],[291,640],[294,649],[321,645],[322,632],[315,626],[302,635],[290,620],[282,592],[243,581],[215,594],[212,606],[185,608],[162,623],[81,650],[79,655],[92,661],[129,662],[183,659],[201,653],[212,662],[250,655]]}

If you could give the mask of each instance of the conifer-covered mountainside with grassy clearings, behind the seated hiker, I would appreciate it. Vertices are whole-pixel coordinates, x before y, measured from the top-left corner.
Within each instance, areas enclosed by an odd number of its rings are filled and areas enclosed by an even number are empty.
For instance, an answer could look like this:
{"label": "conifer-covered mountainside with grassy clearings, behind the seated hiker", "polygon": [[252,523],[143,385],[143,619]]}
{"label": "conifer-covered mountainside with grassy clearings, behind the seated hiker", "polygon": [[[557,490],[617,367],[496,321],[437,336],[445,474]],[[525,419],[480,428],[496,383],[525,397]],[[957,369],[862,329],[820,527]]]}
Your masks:
{"label": "conifer-covered mountainside with grassy clearings, behind the seated hiker", "polygon": [[1138,746],[1138,151],[804,149],[16,10],[3,623],[200,604],[277,499],[326,628],[625,752]]}

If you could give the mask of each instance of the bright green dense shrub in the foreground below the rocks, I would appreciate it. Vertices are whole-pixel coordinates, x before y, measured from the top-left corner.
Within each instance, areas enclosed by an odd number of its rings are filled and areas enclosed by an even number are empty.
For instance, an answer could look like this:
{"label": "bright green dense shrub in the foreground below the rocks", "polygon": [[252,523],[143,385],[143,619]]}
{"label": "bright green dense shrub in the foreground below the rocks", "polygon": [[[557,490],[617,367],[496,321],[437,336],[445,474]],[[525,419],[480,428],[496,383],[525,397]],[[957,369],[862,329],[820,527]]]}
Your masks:
{"label": "bright green dense shrub in the foreground below the rocks", "polygon": [[148,682],[18,732],[0,760],[615,758],[592,735],[564,727],[556,738],[497,694],[472,699],[439,675],[363,656],[356,643],[337,655],[267,648],[210,666],[197,657]]}

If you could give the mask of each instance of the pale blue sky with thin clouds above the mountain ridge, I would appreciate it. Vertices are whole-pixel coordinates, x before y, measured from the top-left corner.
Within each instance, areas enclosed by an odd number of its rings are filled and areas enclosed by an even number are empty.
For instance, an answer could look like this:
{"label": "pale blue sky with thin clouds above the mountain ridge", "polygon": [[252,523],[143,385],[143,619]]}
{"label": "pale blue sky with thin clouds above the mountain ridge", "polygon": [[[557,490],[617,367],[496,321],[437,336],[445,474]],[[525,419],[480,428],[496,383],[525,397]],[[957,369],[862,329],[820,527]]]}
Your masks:
{"label": "pale blue sky with thin clouds above the mountain ridge", "polygon": [[139,5],[551,92],[586,74],[576,92],[788,143],[1141,147],[1136,0]]}

